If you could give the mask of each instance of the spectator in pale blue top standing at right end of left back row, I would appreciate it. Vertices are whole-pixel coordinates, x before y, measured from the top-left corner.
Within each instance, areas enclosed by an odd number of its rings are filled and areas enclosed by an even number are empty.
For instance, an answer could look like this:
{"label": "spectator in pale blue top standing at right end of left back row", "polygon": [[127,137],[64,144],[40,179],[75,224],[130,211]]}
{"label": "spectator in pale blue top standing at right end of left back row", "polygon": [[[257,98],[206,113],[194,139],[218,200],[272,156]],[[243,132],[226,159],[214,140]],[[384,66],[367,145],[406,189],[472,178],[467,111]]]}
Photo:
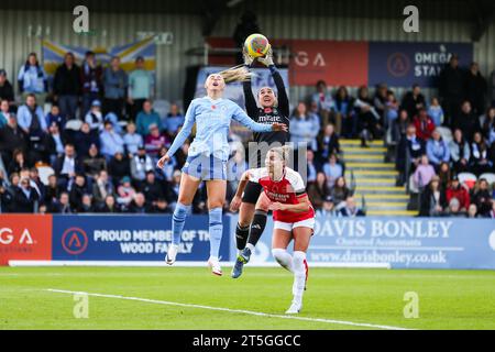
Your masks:
{"label": "spectator in pale blue top standing at right end of left back row", "polygon": [[135,121],[138,113],[143,110],[143,102],[154,96],[155,81],[151,72],[144,66],[144,57],[138,56],[135,69],[129,75],[128,102],[131,107],[130,118]]}

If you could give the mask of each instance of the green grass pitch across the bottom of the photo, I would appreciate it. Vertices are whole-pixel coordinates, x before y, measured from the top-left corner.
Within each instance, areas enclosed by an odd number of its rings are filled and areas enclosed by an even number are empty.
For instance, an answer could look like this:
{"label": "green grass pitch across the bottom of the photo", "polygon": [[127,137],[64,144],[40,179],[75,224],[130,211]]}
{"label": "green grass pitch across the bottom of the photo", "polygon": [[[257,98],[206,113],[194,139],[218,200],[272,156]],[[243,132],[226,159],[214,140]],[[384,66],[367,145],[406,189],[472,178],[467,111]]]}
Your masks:
{"label": "green grass pitch across the bottom of the photo", "polygon": [[[306,320],[280,317],[292,299],[289,273],[248,266],[239,279],[229,274],[229,267],[222,277],[206,267],[0,267],[0,329],[373,329],[333,320],[495,329],[493,271],[311,268],[298,316]],[[89,316],[78,319],[74,295],[46,289],[152,301],[88,296]],[[418,318],[404,317],[407,292],[418,295]]]}

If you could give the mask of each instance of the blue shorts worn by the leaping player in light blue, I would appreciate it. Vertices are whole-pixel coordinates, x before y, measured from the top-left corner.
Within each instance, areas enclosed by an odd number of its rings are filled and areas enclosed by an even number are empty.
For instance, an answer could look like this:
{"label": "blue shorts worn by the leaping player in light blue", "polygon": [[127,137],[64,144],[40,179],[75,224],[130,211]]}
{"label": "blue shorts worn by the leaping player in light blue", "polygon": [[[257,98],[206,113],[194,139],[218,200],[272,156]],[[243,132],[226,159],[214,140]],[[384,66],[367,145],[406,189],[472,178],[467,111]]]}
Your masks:
{"label": "blue shorts worn by the leaping player in light blue", "polygon": [[227,179],[227,161],[204,154],[188,156],[183,173],[201,180]]}

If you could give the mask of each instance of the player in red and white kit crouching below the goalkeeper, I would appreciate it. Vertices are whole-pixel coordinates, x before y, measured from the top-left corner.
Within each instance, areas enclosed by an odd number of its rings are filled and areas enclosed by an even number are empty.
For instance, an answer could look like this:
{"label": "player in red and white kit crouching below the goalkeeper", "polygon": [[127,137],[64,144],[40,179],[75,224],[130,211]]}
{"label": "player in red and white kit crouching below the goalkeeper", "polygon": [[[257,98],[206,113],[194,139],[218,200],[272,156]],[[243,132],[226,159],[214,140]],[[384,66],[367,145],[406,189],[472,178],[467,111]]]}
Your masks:
{"label": "player in red and white kit crouching below the goalkeeper", "polygon": [[[290,148],[286,146],[272,148],[266,154],[266,167],[246,170],[241,177],[230,208],[232,211],[239,209],[249,180],[263,187],[260,201],[273,210],[272,254],[278,264],[294,273],[294,299],[286,314],[298,314],[302,307],[308,274],[306,251],[315,228],[315,210],[306,194],[302,177],[286,166],[289,153]],[[287,246],[293,239],[294,254],[290,255]],[[241,261],[242,266],[242,257],[238,257],[238,261]]]}

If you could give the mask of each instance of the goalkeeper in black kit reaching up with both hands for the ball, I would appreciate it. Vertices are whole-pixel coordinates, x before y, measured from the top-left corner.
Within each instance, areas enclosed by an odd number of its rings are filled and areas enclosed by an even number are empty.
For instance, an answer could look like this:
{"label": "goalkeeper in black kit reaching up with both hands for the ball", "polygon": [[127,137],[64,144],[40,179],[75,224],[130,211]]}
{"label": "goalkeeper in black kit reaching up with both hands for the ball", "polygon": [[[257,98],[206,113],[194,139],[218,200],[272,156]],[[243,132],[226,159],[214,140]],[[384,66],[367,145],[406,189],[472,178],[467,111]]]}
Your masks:
{"label": "goalkeeper in black kit reaching up with both hands for the ball", "polygon": [[[251,68],[254,58],[248,55],[244,50],[244,65]],[[271,87],[262,87],[257,91],[257,102],[251,89],[251,81],[243,82],[245,108],[248,116],[258,123],[272,124],[284,123],[289,127],[289,102],[285,90],[284,80],[273,62],[272,47],[263,57],[257,61],[268,67],[277,92]],[[254,133],[253,142],[250,142],[250,168],[263,167],[266,153],[272,147],[283,146],[289,141],[289,133],[286,131]],[[254,145],[253,145],[254,144]],[[254,164],[253,164],[254,163]],[[238,278],[242,274],[244,264],[250,261],[250,256],[260,240],[267,217],[267,206],[258,201],[262,186],[255,183],[248,183],[242,196],[242,204],[239,210],[239,222],[235,229],[235,243],[239,255],[232,270],[232,277]]]}

